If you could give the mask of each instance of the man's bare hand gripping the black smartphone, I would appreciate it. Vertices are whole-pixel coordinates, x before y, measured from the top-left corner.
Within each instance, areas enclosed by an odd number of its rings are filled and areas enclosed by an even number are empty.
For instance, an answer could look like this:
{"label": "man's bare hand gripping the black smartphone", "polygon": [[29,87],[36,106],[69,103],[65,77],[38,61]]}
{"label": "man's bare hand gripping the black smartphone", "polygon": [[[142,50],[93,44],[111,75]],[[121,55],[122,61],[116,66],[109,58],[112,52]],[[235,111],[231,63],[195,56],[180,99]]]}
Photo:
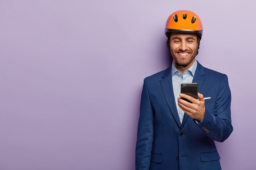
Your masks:
{"label": "man's bare hand gripping the black smartphone", "polygon": [[[192,103],[186,102],[180,97],[188,99]],[[204,96],[198,93],[199,100],[185,94],[180,94],[180,97],[178,97],[178,105],[181,108],[181,110],[183,110],[186,114],[188,114],[193,119],[198,119],[202,121],[204,119],[204,113],[205,113]]]}

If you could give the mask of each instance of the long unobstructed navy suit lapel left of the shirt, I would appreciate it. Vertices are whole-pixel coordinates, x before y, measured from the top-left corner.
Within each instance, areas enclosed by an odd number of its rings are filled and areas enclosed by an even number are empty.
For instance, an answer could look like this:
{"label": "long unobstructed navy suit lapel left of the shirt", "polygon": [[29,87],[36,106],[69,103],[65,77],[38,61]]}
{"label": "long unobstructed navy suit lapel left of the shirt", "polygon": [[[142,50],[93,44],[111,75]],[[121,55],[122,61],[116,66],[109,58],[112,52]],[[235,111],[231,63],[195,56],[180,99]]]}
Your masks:
{"label": "long unobstructed navy suit lapel left of the shirt", "polygon": [[171,66],[166,69],[164,72],[163,79],[160,80],[160,84],[162,86],[162,91],[164,93],[164,97],[166,99],[166,102],[171,110],[171,113],[179,127],[181,127],[180,124],[180,118],[177,112],[177,107],[175,103],[175,97],[173,94],[173,80],[171,75]]}

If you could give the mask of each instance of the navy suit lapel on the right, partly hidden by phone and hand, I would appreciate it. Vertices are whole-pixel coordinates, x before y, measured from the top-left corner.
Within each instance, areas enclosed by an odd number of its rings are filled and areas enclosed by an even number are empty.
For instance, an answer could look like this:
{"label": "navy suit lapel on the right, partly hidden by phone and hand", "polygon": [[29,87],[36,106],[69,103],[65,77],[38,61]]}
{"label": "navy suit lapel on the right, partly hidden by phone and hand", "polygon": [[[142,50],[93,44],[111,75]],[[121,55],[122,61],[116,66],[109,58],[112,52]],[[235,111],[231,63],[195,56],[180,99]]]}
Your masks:
{"label": "navy suit lapel on the right, partly hidden by phone and hand", "polygon": [[[192,83],[198,83],[198,92],[200,91],[201,87],[202,87],[202,84],[204,82],[204,68],[203,66],[198,62],[198,65],[196,67],[196,70],[195,70],[195,75],[193,77],[193,81]],[[183,117],[183,120],[182,120],[182,126],[181,128],[183,127],[183,125],[186,123],[186,119],[188,118],[188,114],[184,113],[184,117]]]}

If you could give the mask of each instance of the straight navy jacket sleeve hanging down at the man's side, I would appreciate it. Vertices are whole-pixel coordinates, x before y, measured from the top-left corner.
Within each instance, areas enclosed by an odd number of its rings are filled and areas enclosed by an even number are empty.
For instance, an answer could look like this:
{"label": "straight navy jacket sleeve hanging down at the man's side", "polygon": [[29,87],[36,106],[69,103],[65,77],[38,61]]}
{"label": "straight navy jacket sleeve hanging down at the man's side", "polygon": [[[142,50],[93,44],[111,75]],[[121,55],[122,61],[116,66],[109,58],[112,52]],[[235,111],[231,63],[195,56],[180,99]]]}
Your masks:
{"label": "straight navy jacket sleeve hanging down at the man's side", "polygon": [[136,170],[149,170],[154,137],[154,111],[150,103],[146,79],[141,93],[140,114],[137,131]]}

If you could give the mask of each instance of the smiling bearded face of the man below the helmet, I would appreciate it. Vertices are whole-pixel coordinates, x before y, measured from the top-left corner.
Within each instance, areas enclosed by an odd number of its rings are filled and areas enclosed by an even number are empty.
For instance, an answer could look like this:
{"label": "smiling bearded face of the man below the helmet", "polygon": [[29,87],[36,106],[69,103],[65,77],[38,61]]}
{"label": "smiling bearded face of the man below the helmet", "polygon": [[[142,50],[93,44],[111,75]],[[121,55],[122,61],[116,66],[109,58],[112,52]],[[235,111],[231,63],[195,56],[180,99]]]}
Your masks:
{"label": "smiling bearded face of the man below the helmet", "polygon": [[197,54],[197,35],[194,33],[171,33],[170,53],[175,66],[192,65]]}

